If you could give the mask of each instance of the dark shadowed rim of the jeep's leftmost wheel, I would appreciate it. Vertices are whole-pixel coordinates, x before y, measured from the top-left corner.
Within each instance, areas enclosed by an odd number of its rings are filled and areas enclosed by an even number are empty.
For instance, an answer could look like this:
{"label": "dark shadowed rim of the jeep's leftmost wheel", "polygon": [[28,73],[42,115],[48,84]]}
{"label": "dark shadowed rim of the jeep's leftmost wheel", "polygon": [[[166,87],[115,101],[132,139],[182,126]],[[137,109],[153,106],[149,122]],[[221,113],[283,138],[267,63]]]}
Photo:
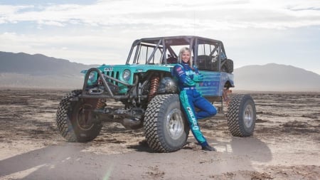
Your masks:
{"label": "dark shadowed rim of the jeep's leftmost wheel", "polygon": [[77,115],[78,127],[82,130],[89,130],[93,127],[92,123],[92,105],[85,104],[79,108]]}

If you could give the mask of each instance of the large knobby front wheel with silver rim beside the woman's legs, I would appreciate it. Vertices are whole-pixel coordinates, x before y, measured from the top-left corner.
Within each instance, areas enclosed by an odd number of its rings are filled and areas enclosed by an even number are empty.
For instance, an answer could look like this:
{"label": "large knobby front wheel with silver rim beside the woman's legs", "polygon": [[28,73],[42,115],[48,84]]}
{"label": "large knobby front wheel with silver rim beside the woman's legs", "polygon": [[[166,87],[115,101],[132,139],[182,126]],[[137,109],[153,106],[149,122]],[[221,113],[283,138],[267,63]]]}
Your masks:
{"label": "large knobby front wheel with silver rim beside the woman's legs", "polygon": [[144,116],[146,142],[155,152],[174,152],[188,139],[189,127],[178,95],[156,95]]}

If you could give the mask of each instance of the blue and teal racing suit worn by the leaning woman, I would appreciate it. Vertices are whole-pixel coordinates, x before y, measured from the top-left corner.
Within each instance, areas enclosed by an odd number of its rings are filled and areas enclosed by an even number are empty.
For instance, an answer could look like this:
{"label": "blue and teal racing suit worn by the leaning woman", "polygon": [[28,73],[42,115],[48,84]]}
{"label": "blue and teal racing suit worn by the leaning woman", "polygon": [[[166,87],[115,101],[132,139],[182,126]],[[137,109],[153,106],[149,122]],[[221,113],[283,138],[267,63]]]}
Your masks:
{"label": "blue and teal racing suit worn by the leaning woman", "polygon": [[[180,102],[186,113],[191,132],[201,146],[206,146],[208,142],[200,131],[198,120],[217,114],[217,110],[196,90],[196,83],[203,80],[203,75],[198,73],[196,67],[191,68],[188,63],[176,64],[172,74],[178,79]],[[198,112],[195,107],[199,109]]]}

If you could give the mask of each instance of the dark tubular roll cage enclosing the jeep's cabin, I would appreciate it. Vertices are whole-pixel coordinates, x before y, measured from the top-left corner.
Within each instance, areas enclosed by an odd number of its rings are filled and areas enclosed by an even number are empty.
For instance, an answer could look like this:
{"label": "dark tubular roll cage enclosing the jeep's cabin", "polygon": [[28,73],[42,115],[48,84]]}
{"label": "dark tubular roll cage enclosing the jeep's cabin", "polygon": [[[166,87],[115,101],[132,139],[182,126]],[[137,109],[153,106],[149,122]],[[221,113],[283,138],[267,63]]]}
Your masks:
{"label": "dark tubular roll cage enclosing the jeep's cabin", "polygon": [[223,43],[199,36],[168,36],[141,38],[132,43],[126,64],[178,63],[178,51],[191,49],[193,64],[199,70],[220,70],[226,53]]}

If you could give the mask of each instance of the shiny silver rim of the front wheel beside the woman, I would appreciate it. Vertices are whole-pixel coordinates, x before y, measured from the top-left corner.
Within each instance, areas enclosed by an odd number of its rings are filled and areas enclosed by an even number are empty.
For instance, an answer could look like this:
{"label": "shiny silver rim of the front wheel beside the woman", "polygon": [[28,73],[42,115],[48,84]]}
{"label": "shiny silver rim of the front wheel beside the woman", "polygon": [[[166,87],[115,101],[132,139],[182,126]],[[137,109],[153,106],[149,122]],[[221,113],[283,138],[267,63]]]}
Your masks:
{"label": "shiny silver rim of the front wheel beside the woman", "polygon": [[171,110],[166,117],[166,129],[172,139],[178,139],[183,134],[183,119],[181,111],[178,109]]}

